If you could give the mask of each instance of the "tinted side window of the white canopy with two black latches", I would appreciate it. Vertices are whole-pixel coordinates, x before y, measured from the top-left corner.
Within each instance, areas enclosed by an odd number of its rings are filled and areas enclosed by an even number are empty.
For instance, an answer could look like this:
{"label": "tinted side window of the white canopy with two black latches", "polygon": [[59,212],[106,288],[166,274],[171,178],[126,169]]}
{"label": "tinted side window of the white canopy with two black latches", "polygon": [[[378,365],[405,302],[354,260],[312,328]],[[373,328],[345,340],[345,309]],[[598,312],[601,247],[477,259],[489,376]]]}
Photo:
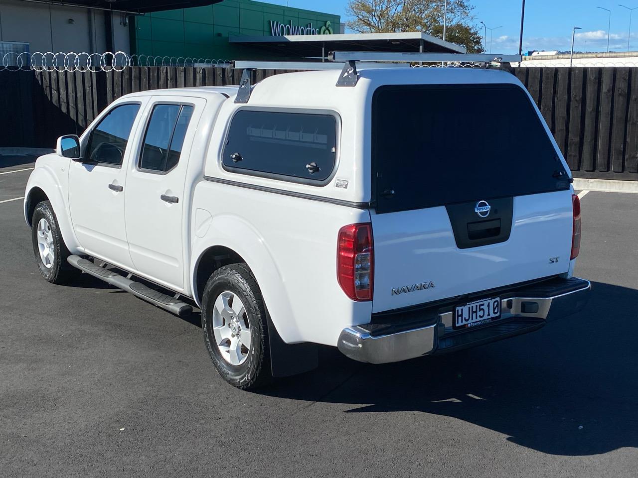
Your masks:
{"label": "tinted side window of the white canopy with two black latches", "polygon": [[334,168],[336,138],[332,115],[242,110],[230,125],[223,163],[247,174],[322,181]]}

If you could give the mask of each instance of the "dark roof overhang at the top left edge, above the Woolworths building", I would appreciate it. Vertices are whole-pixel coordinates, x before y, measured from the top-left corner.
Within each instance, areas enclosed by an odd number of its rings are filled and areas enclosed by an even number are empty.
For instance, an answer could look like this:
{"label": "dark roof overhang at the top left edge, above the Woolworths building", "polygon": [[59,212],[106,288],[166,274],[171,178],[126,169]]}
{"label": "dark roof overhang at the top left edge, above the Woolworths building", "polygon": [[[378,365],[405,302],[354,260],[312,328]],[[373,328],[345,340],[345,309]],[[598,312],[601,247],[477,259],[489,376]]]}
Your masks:
{"label": "dark roof overhang at the top left edge, above the Woolworths building", "polygon": [[219,3],[222,0],[27,0],[58,6],[77,6],[97,10],[121,11],[124,13],[151,13],[152,11],[175,10]]}

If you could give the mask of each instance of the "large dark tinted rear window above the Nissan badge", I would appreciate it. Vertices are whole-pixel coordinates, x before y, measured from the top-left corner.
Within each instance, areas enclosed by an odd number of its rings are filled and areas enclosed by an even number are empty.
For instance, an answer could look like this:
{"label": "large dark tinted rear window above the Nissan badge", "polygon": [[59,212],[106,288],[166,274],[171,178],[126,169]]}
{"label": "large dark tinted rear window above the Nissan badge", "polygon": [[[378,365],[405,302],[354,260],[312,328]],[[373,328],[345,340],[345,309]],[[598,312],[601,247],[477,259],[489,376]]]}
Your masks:
{"label": "large dark tinted rear window above the Nissan badge", "polygon": [[378,212],[569,187],[530,99],[514,85],[379,89],[373,164]]}

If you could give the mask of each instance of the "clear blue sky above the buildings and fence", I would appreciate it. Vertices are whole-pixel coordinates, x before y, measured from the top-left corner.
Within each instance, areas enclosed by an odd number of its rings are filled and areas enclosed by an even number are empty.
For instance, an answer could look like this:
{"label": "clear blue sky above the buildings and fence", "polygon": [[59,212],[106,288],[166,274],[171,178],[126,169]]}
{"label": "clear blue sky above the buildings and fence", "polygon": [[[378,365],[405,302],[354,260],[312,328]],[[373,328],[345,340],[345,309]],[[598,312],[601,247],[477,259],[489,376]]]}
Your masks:
{"label": "clear blue sky above the buildings and fence", "polygon": [[[262,0],[285,5],[286,0]],[[475,22],[483,20],[493,31],[493,52],[516,53],[521,25],[521,0],[469,0],[475,6]],[[308,10],[325,11],[346,18],[347,0],[288,0],[290,6]],[[638,0],[526,0],[523,50],[569,50],[572,27],[577,30],[574,50],[601,52],[607,50],[607,11],[611,10],[611,34],[609,49],[627,50],[629,11],[618,6],[638,7]],[[482,29],[482,25],[479,24]],[[487,49],[490,33],[487,31]],[[585,44],[586,42],[586,44]],[[632,16],[630,48],[638,50],[638,10]]]}

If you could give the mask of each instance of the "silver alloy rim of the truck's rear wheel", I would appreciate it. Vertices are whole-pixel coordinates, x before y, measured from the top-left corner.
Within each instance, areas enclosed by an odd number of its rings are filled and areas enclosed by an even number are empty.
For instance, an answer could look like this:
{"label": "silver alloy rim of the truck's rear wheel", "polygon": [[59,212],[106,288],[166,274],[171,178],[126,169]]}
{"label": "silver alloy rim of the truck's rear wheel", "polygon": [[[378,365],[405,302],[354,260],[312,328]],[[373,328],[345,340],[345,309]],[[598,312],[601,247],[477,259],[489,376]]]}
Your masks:
{"label": "silver alloy rim of the truck's rear wheel", "polygon": [[212,331],[223,359],[230,365],[241,365],[248,358],[251,330],[246,308],[237,294],[224,291],[212,308]]}

